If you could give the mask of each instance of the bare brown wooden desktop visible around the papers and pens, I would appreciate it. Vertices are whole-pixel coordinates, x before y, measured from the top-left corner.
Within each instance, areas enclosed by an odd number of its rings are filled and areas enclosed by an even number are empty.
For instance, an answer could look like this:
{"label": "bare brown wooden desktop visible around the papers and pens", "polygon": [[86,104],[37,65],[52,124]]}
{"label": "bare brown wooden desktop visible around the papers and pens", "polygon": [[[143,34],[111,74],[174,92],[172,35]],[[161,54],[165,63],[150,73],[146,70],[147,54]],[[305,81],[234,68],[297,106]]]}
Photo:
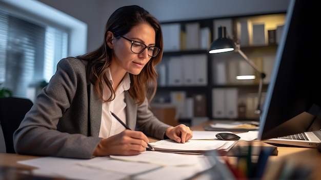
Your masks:
{"label": "bare brown wooden desktop visible around the papers and pens", "polygon": [[[191,127],[192,130],[203,130],[205,124],[200,124]],[[149,138],[150,142],[156,142],[157,139]],[[238,141],[237,145],[247,146],[249,142]],[[264,143],[259,141],[252,142],[253,146],[262,146]],[[270,156],[267,164],[266,171],[264,173],[263,179],[275,179],[276,172],[280,169],[283,162],[293,163],[302,166],[311,166],[313,172],[310,179],[321,179],[321,153],[318,152],[316,148],[296,148],[296,147],[277,147],[278,154],[276,156]],[[0,153],[0,175],[6,174],[2,173],[13,172],[19,170],[30,171],[33,167],[18,164],[18,161],[37,158],[37,156],[30,155],[19,155],[10,153]],[[236,165],[236,157],[228,157],[231,164]],[[0,176],[1,177],[1,176]],[[1,179],[1,178],[0,178]],[[12,179],[12,178],[11,178]]]}

